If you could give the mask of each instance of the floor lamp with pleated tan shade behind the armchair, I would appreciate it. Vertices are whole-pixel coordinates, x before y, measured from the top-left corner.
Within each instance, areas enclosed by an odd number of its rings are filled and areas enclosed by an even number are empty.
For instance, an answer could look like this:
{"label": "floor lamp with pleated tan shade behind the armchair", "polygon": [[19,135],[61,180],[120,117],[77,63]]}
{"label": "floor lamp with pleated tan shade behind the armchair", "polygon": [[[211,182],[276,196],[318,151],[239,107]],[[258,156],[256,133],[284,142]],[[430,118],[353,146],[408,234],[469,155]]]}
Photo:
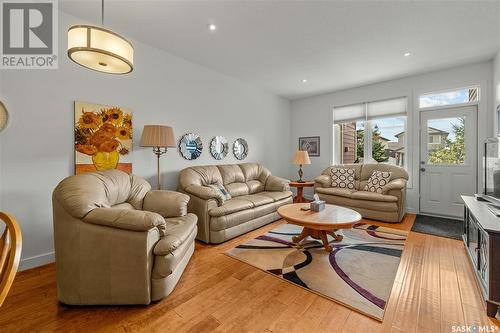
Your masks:
{"label": "floor lamp with pleated tan shade behind the armchair", "polygon": [[144,125],[141,137],[141,147],[153,147],[156,155],[157,189],[160,185],[160,156],[167,152],[167,148],[175,147],[174,130],[170,126]]}

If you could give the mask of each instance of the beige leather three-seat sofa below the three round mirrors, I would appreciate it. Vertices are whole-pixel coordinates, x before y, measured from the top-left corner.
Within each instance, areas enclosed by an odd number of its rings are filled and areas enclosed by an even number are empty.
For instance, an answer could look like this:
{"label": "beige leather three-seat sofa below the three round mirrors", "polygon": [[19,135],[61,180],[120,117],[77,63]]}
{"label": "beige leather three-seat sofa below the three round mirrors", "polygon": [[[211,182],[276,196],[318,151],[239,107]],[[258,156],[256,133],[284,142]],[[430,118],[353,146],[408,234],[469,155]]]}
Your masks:
{"label": "beige leather three-seat sofa below the three round mirrors", "polygon": [[[209,185],[223,184],[231,199]],[[198,216],[197,239],[222,243],[280,219],[276,210],[292,202],[289,181],[257,163],[193,166],[180,172],[178,191]]]}

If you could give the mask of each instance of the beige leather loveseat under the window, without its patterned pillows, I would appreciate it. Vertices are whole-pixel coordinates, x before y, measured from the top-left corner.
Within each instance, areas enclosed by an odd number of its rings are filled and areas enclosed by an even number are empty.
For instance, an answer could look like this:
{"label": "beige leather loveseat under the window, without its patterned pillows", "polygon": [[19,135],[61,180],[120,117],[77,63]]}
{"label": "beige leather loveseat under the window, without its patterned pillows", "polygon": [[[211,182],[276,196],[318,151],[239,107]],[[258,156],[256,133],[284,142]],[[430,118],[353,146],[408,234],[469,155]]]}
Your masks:
{"label": "beige leather loveseat under the window, without its patterned pillows", "polygon": [[[354,169],[355,189],[332,187],[332,168]],[[363,191],[373,171],[389,171],[391,180],[382,194]],[[314,190],[327,203],[352,208],[364,218],[385,222],[401,222],[405,214],[406,182],[405,169],[389,164],[344,164],[326,168],[314,179]]]}

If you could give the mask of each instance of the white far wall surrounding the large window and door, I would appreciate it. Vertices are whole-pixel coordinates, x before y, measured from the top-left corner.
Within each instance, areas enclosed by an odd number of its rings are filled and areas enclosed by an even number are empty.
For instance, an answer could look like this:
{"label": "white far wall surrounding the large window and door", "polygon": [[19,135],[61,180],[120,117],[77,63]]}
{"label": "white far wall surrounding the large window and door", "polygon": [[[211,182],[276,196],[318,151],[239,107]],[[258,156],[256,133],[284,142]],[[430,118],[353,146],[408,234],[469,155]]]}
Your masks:
{"label": "white far wall surrounding the large window and door", "polygon": [[[493,114],[489,111],[492,108],[492,73],[492,61],[487,61],[294,100],[292,102],[292,151],[297,149],[298,138],[301,136],[319,135],[321,137],[321,156],[311,157],[312,164],[304,168],[305,178],[312,179],[319,175],[332,161],[331,116],[334,106],[407,96],[409,101],[407,122],[409,141],[407,147],[411,152],[408,161],[411,179],[407,192],[407,208],[409,211],[417,212],[419,207],[418,95],[423,92],[479,84],[481,86],[481,102],[478,107],[478,142],[481,142],[492,136],[493,133],[493,128],[489,125],[493,121]],[[480,161],[481,156],[482,145],[479,145],[478,161]],[[291,170],[291,175],[296,177],[295,168],[291,168]],[[481,168],[478,170],[481,171]],[[478,184],[478,186],[480,185]],[[311,192],[308,194],[311,195]]]}

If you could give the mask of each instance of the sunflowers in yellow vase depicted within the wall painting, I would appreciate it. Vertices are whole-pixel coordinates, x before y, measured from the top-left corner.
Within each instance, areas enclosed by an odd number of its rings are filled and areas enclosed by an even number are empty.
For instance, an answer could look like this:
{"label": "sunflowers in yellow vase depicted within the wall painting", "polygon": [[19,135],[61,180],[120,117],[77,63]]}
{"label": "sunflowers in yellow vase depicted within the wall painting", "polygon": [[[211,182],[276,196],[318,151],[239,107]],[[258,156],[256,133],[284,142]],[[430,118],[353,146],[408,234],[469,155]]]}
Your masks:
{"label": "sunflowers in yellow vase depicted within the wall painting", "polygon": [[131,150],[132,115],[118,107],[87,111],[82,106],[80,110],[75,150],[90,156],[95,170],[116,169],[120,156]]}

